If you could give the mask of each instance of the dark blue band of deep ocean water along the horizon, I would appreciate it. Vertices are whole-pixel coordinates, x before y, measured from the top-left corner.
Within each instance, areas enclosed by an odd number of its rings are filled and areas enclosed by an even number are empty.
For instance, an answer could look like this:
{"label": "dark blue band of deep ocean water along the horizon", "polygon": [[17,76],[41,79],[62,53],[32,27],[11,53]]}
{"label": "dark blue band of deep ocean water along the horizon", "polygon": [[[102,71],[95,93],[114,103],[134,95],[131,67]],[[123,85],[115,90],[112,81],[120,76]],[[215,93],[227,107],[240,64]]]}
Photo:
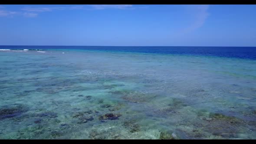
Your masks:
{"label": "dark blue band of deep ocean water along the horizon", "polygon": [[142,52],[199,56],[222,56],[242,59],[256,59],[256,47],[214,47],[214,46],[0,46],[0,49],[69,49],[100,50],[119,52]]}

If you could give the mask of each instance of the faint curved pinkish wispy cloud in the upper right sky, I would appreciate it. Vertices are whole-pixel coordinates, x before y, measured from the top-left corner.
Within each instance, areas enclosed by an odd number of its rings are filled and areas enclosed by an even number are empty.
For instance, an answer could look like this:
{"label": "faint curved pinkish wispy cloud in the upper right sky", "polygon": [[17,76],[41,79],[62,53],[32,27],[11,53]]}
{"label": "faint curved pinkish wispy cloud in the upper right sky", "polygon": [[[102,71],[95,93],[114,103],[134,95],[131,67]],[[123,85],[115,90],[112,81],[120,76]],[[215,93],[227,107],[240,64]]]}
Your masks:
{"label": "faint curved pinkish wispy cloud in the upper right sky", "polygon": [[192,5],[190,7],[192,10],[192,14],[194,14],[194,21],[190,24],[190,26],[183,29],[182,33],[189,33],[200,28],[201,26],[203,26],[203,24],[207,20],[207,17],[210,15],[207,11],[209,9],[209,5]]}

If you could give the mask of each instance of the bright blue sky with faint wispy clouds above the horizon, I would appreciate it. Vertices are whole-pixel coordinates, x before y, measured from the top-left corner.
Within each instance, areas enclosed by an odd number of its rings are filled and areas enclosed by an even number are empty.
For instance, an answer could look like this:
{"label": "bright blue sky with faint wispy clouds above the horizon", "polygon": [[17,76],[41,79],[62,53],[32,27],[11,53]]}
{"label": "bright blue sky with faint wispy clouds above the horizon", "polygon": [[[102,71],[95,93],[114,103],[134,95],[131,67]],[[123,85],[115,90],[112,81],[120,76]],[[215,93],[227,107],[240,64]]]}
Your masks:
{"label": "bright blue sky with faint wispy clouds above the horizon", "polygon": [[0,45],[256,46],[256,5],[0,5]]}

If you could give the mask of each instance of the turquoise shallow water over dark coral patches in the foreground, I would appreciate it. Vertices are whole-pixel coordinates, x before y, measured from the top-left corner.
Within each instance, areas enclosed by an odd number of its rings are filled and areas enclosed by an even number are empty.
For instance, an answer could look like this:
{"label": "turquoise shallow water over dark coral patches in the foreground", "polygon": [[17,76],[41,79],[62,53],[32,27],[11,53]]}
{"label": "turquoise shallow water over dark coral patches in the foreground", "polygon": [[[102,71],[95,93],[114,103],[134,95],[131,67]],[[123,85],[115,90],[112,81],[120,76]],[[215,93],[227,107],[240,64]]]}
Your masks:
{"label": "turquoise shallow water over dark coral patches in the foreground", "polygon": [[0,125],[0,139],[256,139],[256,60],[2,50]]}

